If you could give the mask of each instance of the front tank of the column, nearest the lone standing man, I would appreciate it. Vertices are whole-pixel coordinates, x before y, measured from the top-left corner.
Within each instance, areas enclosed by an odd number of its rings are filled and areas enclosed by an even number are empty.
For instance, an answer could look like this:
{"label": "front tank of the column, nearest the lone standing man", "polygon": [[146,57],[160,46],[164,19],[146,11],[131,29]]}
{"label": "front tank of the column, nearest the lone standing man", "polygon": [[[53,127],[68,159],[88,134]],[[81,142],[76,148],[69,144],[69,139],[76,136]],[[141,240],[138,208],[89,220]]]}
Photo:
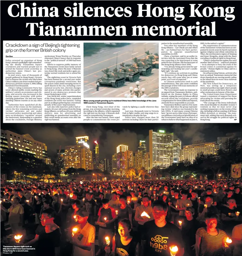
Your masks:
{"label": "front tank of the column, nearest the lone standing man", "polygon": [[117,88],[125,83],[125,78],[118,76],[117,73],[109,71],[109,68],[102,70],[104,75],[99,78],[100,85],[112,85],[112,87]]}

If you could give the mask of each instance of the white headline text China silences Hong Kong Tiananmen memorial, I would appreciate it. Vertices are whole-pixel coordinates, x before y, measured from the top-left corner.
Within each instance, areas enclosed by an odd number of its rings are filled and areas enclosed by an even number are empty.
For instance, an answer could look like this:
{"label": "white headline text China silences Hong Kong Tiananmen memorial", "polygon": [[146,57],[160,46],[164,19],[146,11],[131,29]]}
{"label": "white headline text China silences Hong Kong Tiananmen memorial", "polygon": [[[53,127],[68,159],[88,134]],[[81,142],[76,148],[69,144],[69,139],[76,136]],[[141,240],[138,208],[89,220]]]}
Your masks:
{"label": "white headline text China silences Hong Kong Tiananmen memorial", "polygon": [[[42,3],[42,1],[38,1]],[[112,3],[112,2],[111,2]],[[158,3],[162,3],[159,1]],[[28,3],[28,5],[30,5]],[[222,18],[225,21],[233,21],[235,7],[209,7],[203,4],[189,4],[189,18]],[[136,17],[140,18],[174,18],[175,21],[183,21],[186,17],[185,7],[160,7],[153,4],[137,4],[135,10]],[[73,6],[64,8],[64,17],[69,18],[101,18],[101,17],[125,17],[133,18],[131,7],[84,7],[83,3],[73,3]],[[25,3],[13,3],[8,7],[10,17],[27,17],[27,18],[52,18],[60,17],[58,7],[42,7],[37,3],[32,3],[32,7],[26,6]],[[131,21],[131,20],[130,20]],[[216,19],[216,21],[218,21]],[[212,21],[204,26],[199,21],[190,26],[131,26],[131,36],[216,36],[216,21]],[[86,23],[86,20],[85,20]],[[100,22],[101,23],[101,22]],[[179,24],[178,24],[179,25]],[[49,26],[40,22],[27,22],[26,29],[29,36],[127,36],[126,26]],[[129,30],[130,31],[130,30]],[[128,34],[130,36],[130,34]]]}

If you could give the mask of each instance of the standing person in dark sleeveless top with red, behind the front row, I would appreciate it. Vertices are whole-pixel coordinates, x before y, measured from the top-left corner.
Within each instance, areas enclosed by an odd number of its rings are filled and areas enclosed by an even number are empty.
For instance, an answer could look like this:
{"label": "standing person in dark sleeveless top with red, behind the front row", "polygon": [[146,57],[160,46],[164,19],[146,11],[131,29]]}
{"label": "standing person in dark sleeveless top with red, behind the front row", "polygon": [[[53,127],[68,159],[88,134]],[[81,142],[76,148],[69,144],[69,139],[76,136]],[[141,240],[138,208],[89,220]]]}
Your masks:
{"label": "standing person in dark sleeveless top with red, behind the front row", "polygon": [[100,226],[98,231],[98,245],[99,250],[96,253],[96,256],[99,255],[104,249],[103,245],[105,241],[104,237],[112,237],[114,233],[114,222],[117,218],[114,208],[109,206],[109,200],[107,198],[102,199],[102,207],[98,211],[98,220],[97,222],[105,223],[106,226]]}

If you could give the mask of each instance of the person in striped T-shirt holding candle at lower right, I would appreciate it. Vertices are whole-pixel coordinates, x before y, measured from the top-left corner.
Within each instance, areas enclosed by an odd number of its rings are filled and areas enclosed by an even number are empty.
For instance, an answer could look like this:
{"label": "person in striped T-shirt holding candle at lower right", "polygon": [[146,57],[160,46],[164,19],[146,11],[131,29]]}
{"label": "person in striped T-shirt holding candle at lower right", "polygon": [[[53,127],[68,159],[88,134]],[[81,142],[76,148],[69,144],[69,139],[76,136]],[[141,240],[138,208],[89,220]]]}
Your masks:
{"label": "person in striped T-shirt holding candle at lower right", "polygon": [[219,256],[225,249],[226,232],[217,229],[217,216],[208,213],[205,217],[205,228],[199,228],[196,232],[196,256]]}

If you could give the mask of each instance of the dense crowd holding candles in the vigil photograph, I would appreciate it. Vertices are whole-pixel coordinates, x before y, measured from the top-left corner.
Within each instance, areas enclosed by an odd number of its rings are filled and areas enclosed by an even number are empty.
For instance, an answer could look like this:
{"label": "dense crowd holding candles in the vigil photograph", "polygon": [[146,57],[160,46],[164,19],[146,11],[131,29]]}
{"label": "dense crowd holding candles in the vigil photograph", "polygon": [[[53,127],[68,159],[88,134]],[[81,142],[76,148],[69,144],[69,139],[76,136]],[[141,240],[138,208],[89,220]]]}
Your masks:
{"label": "dense crowd holding candles in the vigil photograph", "polygon": [[16,242],[37,256],[239,256],[242,180],[3,184],[1,244]]}

